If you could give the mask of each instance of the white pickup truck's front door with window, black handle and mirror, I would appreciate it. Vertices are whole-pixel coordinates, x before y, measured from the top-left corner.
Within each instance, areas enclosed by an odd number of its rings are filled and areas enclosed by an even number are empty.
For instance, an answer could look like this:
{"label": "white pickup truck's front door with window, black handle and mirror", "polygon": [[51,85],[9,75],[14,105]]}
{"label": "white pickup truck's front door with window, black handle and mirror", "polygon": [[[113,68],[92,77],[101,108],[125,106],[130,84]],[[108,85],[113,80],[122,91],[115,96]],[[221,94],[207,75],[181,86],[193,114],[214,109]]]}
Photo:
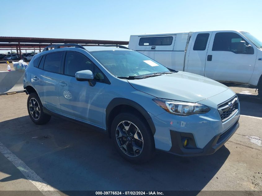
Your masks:
{"label": "white pickup truck's front door with window, black handle and mirror", "polygon": [[257,53],[250,44],[238,32],[214,32],[207,51],[205,76],[216,81],[248,83]]}

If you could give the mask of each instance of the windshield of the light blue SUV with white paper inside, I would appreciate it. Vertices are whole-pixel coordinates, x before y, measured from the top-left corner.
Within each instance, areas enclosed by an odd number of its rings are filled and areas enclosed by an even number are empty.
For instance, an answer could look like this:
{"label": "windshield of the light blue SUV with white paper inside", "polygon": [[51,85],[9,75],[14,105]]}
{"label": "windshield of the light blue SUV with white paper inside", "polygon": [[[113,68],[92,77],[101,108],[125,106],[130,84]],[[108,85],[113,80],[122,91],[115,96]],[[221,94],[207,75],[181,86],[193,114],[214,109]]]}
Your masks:
{"label": "windshield of the light blue SUV with white paper inside", "polygon": [[116,77],[170,72],[160,63],[132,50],[103,50],[90,53]]}

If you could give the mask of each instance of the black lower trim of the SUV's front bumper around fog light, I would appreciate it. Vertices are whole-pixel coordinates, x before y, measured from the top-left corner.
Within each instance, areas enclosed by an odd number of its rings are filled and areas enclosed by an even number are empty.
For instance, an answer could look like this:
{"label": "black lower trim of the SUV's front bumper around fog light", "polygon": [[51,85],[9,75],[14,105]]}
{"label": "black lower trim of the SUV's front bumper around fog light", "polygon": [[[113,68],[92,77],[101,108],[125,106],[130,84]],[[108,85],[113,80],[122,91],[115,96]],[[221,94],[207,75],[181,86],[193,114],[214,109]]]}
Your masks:
{"label": "black lower trim of the SUV's front bumper around fog light", "polygon": [[[238,118],[239,120],[239,118]],[[180,156],[201,156],[201,155],[211,155],[215,153],[218,149],[220,149],[229,138],[236,132],[239,128],[238,120],[225,132],[219,133],[214,136],[210,142],[206,144],[204,148],[197,148],[196,143],[191,133],[181,133],[177,131],[170,130],[171,142],[172,146],[169,150],[169,153],[180,155]],[[188,138],[189,143],[191,143],[190,147],[184,147],[182,145],[182,139]]]}

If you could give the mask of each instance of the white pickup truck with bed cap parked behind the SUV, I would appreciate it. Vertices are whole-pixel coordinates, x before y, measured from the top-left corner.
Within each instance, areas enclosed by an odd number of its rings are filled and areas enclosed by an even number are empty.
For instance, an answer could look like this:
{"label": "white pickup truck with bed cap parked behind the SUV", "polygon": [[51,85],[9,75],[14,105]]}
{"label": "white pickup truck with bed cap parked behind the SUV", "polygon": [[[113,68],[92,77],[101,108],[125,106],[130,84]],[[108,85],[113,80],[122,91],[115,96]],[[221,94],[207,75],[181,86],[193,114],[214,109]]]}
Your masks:
{"label": "white pickup truck with bed cap parked behind the SUV", "polygon": [[262,99],[262,41],[242,31],[131,35],[128,47],[168,68],[249,84]]}

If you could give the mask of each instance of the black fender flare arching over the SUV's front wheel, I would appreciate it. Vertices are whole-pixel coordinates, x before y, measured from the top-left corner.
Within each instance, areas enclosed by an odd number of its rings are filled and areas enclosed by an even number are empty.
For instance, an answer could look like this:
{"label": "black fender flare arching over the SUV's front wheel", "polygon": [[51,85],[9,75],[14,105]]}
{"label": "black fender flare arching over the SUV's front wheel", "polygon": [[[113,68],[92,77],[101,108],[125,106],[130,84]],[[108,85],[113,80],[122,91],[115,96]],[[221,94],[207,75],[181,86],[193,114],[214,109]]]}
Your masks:
{"label": "black fender flare arching over the SUV's front wheel", "polygon": [[135,108],[136,110],[138,110],[146,119],[147,123],[149,124],[149,127],[151,128],[153,135],[156,133],[155,125],[154,125],[153,120],[152,120],[151,116],[149,115],[149,113],[140,104],[138,104],[137,102],[132,101],[130,99],[127,99],[127,98],[113,98],[109,102],[109,104],[108,104],[108,106],[105,110],[107,131],[109,131],[109,126],[108,126],[109,114],[115,107],[117,107],[119,105],[128,105],[128,106],[131,106],[131,107]]}

